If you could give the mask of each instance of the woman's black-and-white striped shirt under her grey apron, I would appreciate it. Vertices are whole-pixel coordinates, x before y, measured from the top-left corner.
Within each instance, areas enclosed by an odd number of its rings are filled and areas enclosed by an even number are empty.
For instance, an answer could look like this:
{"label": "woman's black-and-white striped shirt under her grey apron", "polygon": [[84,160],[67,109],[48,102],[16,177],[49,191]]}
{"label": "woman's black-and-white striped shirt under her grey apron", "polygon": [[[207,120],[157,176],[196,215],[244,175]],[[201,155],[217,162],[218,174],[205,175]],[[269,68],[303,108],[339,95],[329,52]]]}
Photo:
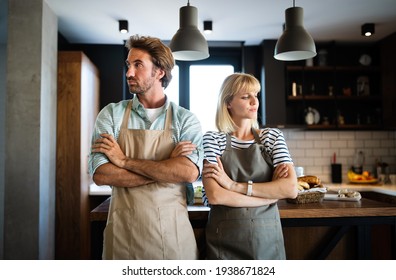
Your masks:
{"label": "woman's black-and-white striped shirt under her grey apron", "polygon": [[[281,163],[293,163],[289,149],[286,145],[283,133],[277,128],[260,129],[259,138],[264,145],[266,152],[272,159],[274,167]],[[231,147],[235,149],[246,149],[255,143],[255,140],[240,140],[231,136]],[[226,134],[224,132],[209,131],[203,137],[204,159],[210,163],[217,164],[216,156],[221,157],[227,145]],[[208,205],[208,200],[203,187],[203,202]]]}

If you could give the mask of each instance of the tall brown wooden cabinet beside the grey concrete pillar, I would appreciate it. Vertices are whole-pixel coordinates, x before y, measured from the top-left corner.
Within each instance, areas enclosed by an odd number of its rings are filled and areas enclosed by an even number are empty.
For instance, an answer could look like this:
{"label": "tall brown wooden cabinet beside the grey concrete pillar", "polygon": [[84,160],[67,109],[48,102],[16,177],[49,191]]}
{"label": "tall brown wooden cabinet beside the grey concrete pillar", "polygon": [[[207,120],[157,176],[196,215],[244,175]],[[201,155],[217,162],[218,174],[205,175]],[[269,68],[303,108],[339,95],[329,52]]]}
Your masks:
{"label": "tall brown wooden cabinet beside the grey concrete pillar", "polygon": [[88,154],[99,110],[99,73],[79,51],[58,54],[56,259],[90,258]]}

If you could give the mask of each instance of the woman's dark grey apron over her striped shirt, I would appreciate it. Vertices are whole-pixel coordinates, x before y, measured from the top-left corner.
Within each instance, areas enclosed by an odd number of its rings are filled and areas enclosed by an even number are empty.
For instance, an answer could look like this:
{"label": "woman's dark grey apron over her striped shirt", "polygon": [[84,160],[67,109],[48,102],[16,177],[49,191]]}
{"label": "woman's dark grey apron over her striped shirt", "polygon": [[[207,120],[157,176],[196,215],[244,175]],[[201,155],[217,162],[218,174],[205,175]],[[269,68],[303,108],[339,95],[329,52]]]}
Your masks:
{"label": "woman's dark grey apron over her striped shirt", "polygon": [[[272,180],[272,160],[252,129],[256,143],[247,149],[227,146],[221,161],[237,182]],[[260,207],[212,205],[206,227],[208,259],[285,259],[282,226],[276,203]]]}

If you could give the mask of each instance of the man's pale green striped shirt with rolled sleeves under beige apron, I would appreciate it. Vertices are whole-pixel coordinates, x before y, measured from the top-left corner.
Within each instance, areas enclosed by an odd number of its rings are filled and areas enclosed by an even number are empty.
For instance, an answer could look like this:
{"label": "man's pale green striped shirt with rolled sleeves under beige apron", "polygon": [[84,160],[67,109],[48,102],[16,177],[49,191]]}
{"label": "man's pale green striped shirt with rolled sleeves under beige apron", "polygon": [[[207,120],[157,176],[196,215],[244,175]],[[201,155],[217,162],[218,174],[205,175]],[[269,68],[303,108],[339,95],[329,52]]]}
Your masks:
{"label": "man's pale green striped shirt with rolled sleeves under beige apron", "polygon": [[[100,138],[100,134],[102,133],[109,133],[118,140],[125,109],[129,101],[123,100],[118,103],[110,103],[99,112],[96,118],[91,144]],[[163,130],[166,111],[169,106],[172,106],[172,139],[175,144],[180,141],[189,140],[197,146],[197,149],[187,157],[199,168],[201,174],[203,162],[202,128],[198,118],[191,111],[170,102],[167,98],[163,112],[154,122],[151,122],[144,106],[135,95],[133,97],[128,128]],[[89,173],[93,175],[100,165],[108,162],[109,160],[106,155],[91,152],[88,158]]]}

